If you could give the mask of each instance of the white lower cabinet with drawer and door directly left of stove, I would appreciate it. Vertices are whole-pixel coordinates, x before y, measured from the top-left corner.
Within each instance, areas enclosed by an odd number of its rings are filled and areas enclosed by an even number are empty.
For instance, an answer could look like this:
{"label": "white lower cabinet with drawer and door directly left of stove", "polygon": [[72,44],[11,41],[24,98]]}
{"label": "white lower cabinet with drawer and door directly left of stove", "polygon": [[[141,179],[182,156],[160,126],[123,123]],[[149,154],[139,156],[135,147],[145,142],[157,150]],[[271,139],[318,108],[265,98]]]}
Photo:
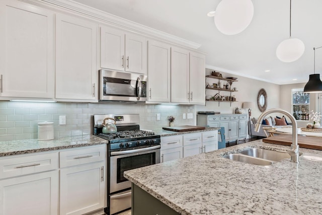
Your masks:
{"label": "white lower cabinet with drawer and door directly left of stove", "polygon": [[105,145],[59,153],[60,164],[67,164],[60,169],[60,215],[85,214],[105,207],[105,158]]}

